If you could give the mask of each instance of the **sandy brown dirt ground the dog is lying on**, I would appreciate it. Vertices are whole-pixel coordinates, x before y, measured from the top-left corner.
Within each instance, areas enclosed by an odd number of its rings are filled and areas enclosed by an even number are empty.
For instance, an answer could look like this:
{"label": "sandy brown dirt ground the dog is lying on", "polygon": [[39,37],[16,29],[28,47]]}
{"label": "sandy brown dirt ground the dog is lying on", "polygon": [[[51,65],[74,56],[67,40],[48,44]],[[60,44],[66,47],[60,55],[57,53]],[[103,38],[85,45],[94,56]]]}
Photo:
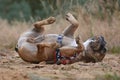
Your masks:
{"label": "sandy brown dirt ground the dog is lying on", "polygon": [[0,51],[0,80],[93,80],[105,74],[120,76],[120,55],[107,53],[99,63],[50,65],[27,63],[15,51]]}

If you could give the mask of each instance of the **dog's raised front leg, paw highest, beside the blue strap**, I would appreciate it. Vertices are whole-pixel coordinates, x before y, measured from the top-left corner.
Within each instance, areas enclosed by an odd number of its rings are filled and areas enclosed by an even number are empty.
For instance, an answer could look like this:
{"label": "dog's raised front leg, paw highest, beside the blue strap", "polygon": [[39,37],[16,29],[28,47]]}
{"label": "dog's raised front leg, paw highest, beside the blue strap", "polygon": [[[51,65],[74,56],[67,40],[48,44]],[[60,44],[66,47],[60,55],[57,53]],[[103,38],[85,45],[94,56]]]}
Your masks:
{"label": "dog's raised front leg, paw highest, beside the blue strap", "polygon": [[69,27],[67,27],[62,34],[64,36],[70,37],[70,38],[74,38],[74,33],[76,31],[76,29],[79,26],[78,21],[74,18],[74,16],[71,13],[68,13],[66,15],[66,20],[69,21],[71,23],[71,25]]}

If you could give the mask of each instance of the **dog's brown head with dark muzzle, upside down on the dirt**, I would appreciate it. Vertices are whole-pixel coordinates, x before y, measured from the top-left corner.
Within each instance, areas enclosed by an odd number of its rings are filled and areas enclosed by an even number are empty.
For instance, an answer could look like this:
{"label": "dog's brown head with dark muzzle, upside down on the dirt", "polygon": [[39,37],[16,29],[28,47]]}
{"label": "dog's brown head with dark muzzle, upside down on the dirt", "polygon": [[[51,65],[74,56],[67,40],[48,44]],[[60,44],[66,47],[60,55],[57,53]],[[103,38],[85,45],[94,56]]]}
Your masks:
{"label": "dog's brown head with dark muzzle, upside down on the dirt", "polygon": [[85,56],[82,60],[85,62],[102,61],[106,53],[106,41],[103,36],[94,36],[89,39],[88,48],[85,50]]}

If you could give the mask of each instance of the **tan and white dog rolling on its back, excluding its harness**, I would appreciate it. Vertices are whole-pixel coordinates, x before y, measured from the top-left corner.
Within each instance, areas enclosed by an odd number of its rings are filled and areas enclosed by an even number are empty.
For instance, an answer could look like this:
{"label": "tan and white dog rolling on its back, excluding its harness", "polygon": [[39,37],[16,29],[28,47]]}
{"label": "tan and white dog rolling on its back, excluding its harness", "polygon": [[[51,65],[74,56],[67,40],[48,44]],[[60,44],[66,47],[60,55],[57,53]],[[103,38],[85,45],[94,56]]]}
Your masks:
{"label": "tan and white dog rolling on its back, excluding its harness", "polygon": [[66,20],[71,25],[61,33],[62,42],[58,41],[59,34],[44,34],[44,26],[54,23],[54,17],[36,22],[34,28],[23,33],[18,40],[16,51],[20,57],[32,63],[41,61],[54,63],[54,53],[58,49],[60,54],[67,58],[79,53],[70,63],[102,61],[106,54],[104,37],[94,36],[82,44],[79,36],[74,39],[74,33],[79,26],[78,21],[70,13],[66,15]]}

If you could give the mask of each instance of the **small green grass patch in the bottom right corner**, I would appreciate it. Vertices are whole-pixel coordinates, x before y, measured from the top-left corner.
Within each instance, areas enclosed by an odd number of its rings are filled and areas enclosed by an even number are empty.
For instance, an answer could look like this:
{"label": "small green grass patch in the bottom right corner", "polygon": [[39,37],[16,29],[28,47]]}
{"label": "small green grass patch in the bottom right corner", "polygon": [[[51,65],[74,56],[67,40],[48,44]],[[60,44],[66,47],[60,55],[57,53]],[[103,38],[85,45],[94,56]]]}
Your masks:
{"label": "small green grass patch in the bottom right corner", "polygon": [[120,76],[116,73],[112,74],[105,74],[103,76],[97,76],[95,80],[120,80]]}

